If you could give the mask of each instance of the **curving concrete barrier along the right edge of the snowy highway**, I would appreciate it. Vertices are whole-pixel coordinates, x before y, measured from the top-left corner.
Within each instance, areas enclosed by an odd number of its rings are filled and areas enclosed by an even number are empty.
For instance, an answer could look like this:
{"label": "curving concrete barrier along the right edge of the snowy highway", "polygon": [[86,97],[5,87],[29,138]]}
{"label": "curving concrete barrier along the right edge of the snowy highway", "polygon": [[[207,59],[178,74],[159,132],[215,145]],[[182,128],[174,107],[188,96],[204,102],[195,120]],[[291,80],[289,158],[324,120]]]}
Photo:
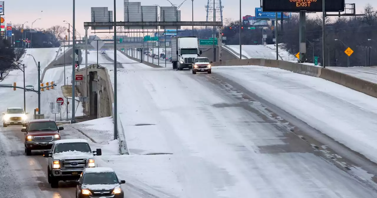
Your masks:
{"label": "curving concrete barrier along the right edge of the snowy highway", "polygon": [[246,66],[246,65],[258,65],[271,68],[280,68],[288,71],[292,71],[298,74],[310,75],[314,77],[323,78],[325,80],[343,85],[355,91],[362,92],[377,98],[377,84],[372,83],[351,75],[343,74],[327,68],[321,68],[311,66],[307,64],[294,63],[283,60],[269,60],[261,58],[250,59],[234,59],[225,60],[213,63],[213,66]]}

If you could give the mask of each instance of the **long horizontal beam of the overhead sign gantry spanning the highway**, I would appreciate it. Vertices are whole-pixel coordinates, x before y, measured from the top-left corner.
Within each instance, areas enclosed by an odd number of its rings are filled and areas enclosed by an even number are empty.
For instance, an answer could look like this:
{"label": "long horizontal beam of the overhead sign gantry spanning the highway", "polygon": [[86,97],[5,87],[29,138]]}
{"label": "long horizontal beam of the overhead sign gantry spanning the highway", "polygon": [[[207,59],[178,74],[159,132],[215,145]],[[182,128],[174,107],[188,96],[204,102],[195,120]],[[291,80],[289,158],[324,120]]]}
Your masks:
{"label": "long horizontal beam of the overhead sign gantry spanning the highway", "polygon": [[[84,27],[111,27],[114,22],[84,22]],[[221,21],[153,21],[153,22],[116,22],[116,26],[147,27],[147,26],[222,26]]]}

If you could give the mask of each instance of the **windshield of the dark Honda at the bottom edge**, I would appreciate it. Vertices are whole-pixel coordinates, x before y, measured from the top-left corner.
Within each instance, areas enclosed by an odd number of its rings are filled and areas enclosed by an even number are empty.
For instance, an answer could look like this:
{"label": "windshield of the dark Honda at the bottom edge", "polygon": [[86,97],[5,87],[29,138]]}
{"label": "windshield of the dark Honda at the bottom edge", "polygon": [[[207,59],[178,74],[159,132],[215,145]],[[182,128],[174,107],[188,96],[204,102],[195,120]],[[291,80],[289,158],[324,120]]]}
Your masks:
{"label": "windshield of the dark Honda at the bottom edge", "polygon": [[118,184],[115,173],[85,173],[83,184]]}

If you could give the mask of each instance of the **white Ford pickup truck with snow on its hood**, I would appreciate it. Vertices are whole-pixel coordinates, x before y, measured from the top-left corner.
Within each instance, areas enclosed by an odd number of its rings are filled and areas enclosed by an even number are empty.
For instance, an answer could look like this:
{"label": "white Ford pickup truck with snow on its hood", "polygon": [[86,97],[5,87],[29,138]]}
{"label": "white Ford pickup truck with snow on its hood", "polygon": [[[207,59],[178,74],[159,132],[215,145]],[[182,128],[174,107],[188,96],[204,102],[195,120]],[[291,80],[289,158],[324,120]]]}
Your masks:
{"label": "white Ford pickup truck with snow on its hood", "polygon": [[59,181],[78,180],[85,168],[97,167],[94,156],[102,155],[101,149],[92,151],[83,139],[57,140],[43,156],[48,158],[48,183],[57,188]]}

